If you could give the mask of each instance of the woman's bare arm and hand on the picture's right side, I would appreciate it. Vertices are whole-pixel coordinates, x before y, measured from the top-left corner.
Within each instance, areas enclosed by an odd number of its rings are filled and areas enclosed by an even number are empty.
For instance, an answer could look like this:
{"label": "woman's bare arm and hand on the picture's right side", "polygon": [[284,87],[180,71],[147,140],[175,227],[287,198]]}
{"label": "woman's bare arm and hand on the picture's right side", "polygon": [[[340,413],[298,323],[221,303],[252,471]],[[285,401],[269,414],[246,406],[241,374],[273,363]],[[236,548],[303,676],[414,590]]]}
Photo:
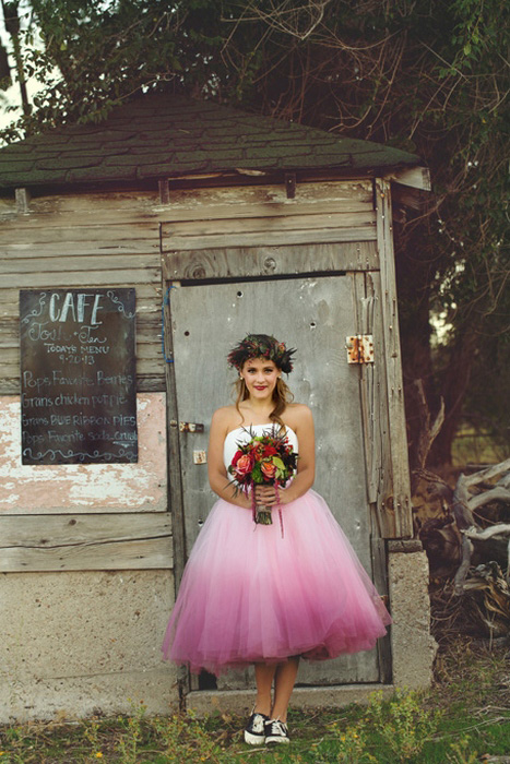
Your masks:
{"label": "woman's bare arm and hand on the picture's right side", "polygon": [[[313,417],[304,404],[296,405],[293,411],[293,430],[299,443],[299,458],[297,461],[297,474],[288,488],[281,488],[280,503],[288,504],[295,501],[312,487],[316,477],[316,438],[313,430]],[[273,486],[257,486],[257,501],[268,506],[277,503]]]}

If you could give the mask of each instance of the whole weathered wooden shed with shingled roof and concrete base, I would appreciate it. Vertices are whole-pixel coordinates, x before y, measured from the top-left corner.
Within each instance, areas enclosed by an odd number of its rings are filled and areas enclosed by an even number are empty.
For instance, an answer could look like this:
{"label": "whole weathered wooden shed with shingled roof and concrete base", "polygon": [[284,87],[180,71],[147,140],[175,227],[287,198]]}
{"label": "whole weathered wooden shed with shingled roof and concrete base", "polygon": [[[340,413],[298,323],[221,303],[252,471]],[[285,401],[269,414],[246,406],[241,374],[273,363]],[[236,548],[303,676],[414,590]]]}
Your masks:
{"label": "whole weathered wooden shed with shingled roof and concrete base", "polygon": [[[415,204],[427,188],[412,154],[180,96],[0,150],[0,721],[124,712],[128,699],[154,713],[249,707],[249,671],[192,679],[162,664],[159,647],[214,501],[204,465],[211,414],[235,377],[225,357],[250,331],[298,348],[289,385],[315,413],[316,488],[394,620],[371,653],[303,664],[296,702],[427,683],[392,244],[392,195]],[[116,362],[135,362],[138,456],[29,451],[49,432],[83,441],[80,409],[72,433],[58,426],[88,378],[82,356],[59,407],[43,401],[46,378],[26,371],[25,301],[63,358],[50,333],[63,305],[78,321],[74,299],[97,308],[109,295],[118,307],[132,290],[135,350]],[[112,331],[111,347],[129,350]],[[103,374],[107,392],[127,369]],[[44,416],[25,411],[38,401]],[[99,419],[86,430],[98,441]]]}

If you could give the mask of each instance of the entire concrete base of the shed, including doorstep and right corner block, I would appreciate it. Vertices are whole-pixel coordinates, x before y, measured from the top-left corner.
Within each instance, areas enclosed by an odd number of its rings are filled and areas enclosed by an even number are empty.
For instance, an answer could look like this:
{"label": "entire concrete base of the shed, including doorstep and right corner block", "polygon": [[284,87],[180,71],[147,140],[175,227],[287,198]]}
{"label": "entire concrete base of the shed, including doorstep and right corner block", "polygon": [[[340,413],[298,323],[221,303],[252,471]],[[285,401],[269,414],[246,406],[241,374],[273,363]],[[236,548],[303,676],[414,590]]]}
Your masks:
{"label": "entire concrete base of the shed, including doorstep and right corner block", "polygon": [[[392,684],[296,688],[294,707],[365,703],[430,684],[437,645],[429,633],[425,552],[389,554],[393,625]],[[0,574],[0,723],[132,714],[178,708],[177,669],[159,645],[174,602],[171,571],[80,571]],[[198,715],[248,714],[254,693],[197,691]]]}

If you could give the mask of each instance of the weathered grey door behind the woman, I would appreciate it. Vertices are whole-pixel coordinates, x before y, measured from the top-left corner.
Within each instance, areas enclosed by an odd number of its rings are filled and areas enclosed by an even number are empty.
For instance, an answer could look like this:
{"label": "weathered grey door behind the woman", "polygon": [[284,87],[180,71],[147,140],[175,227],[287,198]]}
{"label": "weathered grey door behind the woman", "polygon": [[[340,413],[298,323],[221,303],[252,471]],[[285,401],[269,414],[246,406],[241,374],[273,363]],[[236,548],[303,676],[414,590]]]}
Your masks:
{"label": "weathered grey door behind the woman", "polygon": [[[290,259],[293,249],[280,248]],[[275,279],[234,277],[168,283],[167,334],[171,336],[167,337],[167,351],[171,354],[168,377],[173,385],[170,413],[174,411],[170,441],[175,444],[171,446],[170,442],[170,459],[174,449],[176,469],[180,463],[179,474],[174,470],[174,503],[180,504],[174,508],[175,530],[179,537],[182,523],[177,554],[183,558],[189,554],[215,501],[201,452],[207,447],[213,410],[233,401],[236,372],[228,369],[226,356],[248,332],[256,332],[274,334],[297,348],[288,384],[295,399],[308,404],[313,411],[315,489],[324,497],[365,569],[372,574],[359,391],[361,371],[358,366],[347,363],[345,349],[346,336],[356,333],[359,306],[355,283],[360,274],[325,268],[320,273],[317,259],[313,265],[318,272],[312,276],[288,274]],[[193,428],[197,425],[204,426],[203,432],[200,427]],[[170,480],[171,471],[170,463]],[[304,684],[380,679],[377,649],[330,661],[301,661],[298,676],[298,682]],[[249,670],[233,671],[218,680],[220,689],[251,684]]]}

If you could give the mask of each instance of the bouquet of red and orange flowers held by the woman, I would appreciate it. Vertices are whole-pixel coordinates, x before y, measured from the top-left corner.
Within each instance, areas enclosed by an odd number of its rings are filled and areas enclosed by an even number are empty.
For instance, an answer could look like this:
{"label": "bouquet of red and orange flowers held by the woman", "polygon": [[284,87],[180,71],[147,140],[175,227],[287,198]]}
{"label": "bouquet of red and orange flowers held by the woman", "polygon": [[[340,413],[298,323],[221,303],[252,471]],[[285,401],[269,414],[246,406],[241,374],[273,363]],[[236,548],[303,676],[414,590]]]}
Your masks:
{"label": "bouquet of red and orange flowers held by the woman", "polygon": [[[296,471],[297,453],[287,435],[280,434],[280,427],[273,425],[270,433],[254,435],[252,430],[248,443],[238,443],[228,473],[236,486],[248,496],[251,492],[253,522],[271,525],[271,508],[257,505],[256,486],[274,486],[277,497],[278,486],[285,486]],[[282,521],[282,513],[280,513]]]}

